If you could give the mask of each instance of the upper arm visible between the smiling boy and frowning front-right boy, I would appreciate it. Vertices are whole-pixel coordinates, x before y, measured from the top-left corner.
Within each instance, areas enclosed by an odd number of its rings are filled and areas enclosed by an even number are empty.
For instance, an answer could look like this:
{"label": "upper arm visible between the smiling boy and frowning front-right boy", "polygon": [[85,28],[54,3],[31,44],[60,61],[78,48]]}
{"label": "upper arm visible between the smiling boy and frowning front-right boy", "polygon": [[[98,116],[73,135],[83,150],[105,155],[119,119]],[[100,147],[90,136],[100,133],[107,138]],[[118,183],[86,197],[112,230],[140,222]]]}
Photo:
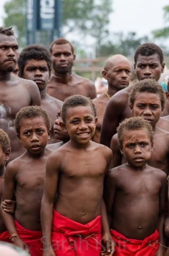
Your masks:
{"label": "upper arm visible between the smiling boy and frowning front-right boy", "polygon": [[122,154],[121,154],[119,143],[117,140],[117,133],[112,137],[111,149],[113,152],[113,157],[112,157],[110,169],[122,164]]}

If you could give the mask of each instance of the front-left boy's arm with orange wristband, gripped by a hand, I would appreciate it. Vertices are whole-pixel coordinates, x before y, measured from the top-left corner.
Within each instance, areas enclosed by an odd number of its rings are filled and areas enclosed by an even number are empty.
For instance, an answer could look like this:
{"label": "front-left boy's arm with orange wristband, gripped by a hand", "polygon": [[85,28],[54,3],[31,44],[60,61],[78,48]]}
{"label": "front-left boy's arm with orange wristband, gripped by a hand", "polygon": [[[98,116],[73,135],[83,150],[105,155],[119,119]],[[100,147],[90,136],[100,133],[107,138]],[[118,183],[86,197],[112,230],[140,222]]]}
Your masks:
{"label": "front-left boy's arm with orange wristband, gripped by a hand", "polygon": [[[12,167],[12,164],[8,164],[5,170],[5,176],[4,176],[4,184],[3,184],[3,191],[2,191],[2,201],[4,201],[6,198],[13,200],[14,199],[14,190],[15,190],[15,170]],[[29,252],[27,244],[25,244],[19,237],[15,224],[14,224],[14,218],[13,215],[10,213],[7,213],[3,210],[1,207],[1,213],[2,218],[5,223],[5,226],[10,234],[10,239],[13,244],[16,246],[19,246],[23,250],[26,250]]]}

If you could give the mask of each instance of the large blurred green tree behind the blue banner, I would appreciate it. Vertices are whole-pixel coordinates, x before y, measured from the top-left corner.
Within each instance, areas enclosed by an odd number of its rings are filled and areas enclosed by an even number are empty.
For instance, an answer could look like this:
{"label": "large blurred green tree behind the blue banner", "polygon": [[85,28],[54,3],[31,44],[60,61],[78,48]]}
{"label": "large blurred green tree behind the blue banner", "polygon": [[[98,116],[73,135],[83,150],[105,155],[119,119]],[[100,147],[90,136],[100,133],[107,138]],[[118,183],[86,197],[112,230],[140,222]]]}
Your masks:
{"label": "large blurred green tree behind the blue banner", "polygon": [[[100,45],[108,34],[109,14],[112,12],[112,0],[61,0],[62,35],[75,33],[95,38]],[[26,44],[26,1],[10,0],[4,5],[7,17],[4,26],[14,28],[19,44]],[[40,42],[39,42],[40,43]]]}

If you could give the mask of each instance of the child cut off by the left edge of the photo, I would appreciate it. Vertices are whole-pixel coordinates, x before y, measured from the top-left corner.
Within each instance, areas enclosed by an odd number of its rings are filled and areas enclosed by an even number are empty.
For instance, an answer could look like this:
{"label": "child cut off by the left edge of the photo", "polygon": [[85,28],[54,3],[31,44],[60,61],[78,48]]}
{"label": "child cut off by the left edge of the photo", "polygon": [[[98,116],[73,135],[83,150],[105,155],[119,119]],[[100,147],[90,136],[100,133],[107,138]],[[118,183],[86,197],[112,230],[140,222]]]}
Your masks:
{"label": "child cut off by the left edge of the photo", "polygon": [[[10,138],[6,132],[0,129],[0,199],[2,199],[2,187],[4,183],[5,163],[10,158]],[[9,201],[7,201],[9,203]],[[9,205],[6,203],[6,206]],[[8,210],[5,210],[8,211]],[[4,225],[0,212],[0,241],[10,242],[9,233]]]}

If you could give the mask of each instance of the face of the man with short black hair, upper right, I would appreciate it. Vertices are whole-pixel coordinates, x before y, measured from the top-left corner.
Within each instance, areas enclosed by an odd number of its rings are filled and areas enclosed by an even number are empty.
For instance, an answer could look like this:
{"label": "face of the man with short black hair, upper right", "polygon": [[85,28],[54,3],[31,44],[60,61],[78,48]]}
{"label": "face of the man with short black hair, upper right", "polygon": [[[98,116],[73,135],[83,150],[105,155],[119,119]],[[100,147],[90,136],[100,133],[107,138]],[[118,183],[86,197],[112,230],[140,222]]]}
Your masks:
{"label": "face of the man with short black hair, upper right", "polygon": [[137,62],[134,63],[136,75],[139,80],[145,78],[154,78],[156,81],[158,81],[161,73],[164,71],[164,66],[164,63],[160,63],[157,53],[150,56],[142,56],[139,54]]}

